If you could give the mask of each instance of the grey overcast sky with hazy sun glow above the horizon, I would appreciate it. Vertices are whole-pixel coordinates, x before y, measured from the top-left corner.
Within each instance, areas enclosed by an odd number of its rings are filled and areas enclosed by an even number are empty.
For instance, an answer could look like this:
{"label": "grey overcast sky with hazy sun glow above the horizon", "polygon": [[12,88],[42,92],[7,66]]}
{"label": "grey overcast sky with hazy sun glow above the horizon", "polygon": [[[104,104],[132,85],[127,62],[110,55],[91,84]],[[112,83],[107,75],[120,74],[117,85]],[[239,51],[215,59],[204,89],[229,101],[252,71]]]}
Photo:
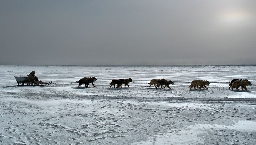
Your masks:
{"label": "grey overcast sky with hazy sun glow above the horizon", "polygon": [[0,0],[0,65],[256,64],[256,1]]}

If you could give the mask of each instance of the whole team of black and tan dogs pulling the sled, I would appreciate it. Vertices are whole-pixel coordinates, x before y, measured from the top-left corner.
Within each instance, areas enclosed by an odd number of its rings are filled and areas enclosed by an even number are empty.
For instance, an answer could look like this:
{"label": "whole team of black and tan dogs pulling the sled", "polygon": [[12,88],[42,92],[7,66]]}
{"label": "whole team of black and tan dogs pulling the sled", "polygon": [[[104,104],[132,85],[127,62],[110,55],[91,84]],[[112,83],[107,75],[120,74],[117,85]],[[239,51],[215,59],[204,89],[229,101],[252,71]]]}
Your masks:
{"label": "whole team of black and tan dogs pulling the sled", "polygon": [[[81,86],[82,87],[82,84],[85,84],[85,87],[87,88],[89,86],[89,84],[91,83],[91,85],[93,85],[95,87],[95,85],[93,84],[94,81],[96,81],[96,77],[84,77],[82,79],[80,79],[79,81],[76,81],[76,83],[79,83],[78,84],[78,87]],[[126,85],[129,87],[129,83],[132,82],[132,79],[131,78],[128,78],[128,79],[119,79],[119,80],[112,80],[111,83],[109,83],[110,87],[113,85],[114,88],[119,88],[121,87],[122,88],[122,84]],[[170,88],[170,84],[174,86],[174,83],[171,81],[171,80],[165,80],[165,79],[153,79],[151,80],[149,83],[149,88],[151,85],[154,85],[155,88],[157,89],[159,86],[161,89],[165,89],[165,87],[168,87],[169,89]],[[196,89],[195,87],[199,88],[201,90],[201,88],[203,89],[208,89],[206,87],[209,86],[209,81],[208,80],[193,80],[191,82],[191,85],[190,85],[190,90],[194,87],[194,89]],[[117,85],[117,87],[115,87]],[[251,82],[249,80],[242,80],[242,79],[233,79],[229,82],[229,89],[231,88],[232,90],[234,88],[238,89],[240,86],[242,88],[242,90],[246,90],[246,86],[251,86]]]}

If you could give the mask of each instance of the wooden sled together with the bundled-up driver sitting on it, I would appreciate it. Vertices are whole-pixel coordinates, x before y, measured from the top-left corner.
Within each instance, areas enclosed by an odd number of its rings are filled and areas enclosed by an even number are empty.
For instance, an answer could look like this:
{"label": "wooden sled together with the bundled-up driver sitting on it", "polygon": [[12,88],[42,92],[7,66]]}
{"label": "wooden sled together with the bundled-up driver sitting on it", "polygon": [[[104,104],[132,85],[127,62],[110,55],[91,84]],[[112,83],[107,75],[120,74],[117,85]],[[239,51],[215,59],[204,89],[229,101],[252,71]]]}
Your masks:
{"label": "wooden sled together with the bundled-up driver sitting on it", "polygon": [[37,76],[35,75],[35,71],[32,71],[27,76],[14,76],[18,85],[37,85],[37,86],[43,86],[43,85],[50,85],[52,81],[50,82],[43,82],[38,80]]}

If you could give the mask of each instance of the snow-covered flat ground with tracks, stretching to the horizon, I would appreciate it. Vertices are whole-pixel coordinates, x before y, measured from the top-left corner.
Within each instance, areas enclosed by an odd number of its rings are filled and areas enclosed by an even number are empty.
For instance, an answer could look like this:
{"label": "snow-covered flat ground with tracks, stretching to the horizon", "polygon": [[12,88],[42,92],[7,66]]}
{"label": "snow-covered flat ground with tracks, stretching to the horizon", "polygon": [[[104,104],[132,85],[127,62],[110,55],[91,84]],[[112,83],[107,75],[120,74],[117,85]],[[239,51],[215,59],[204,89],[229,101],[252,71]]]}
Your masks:
{"label": "snow-covered flat ground with tracks, stretching to the horizon", "polygon": [[[17,86],[14,76],[32,70],[53,83]],[[96,87],[78,88],[90,76]],[[129,88],[110,88],[122,78],[132,78]],[[175,87],[148,88],[161,78]],[[252,86],[229,90],[234,78]],[[208,80],[209,89],[190,90],[192,80]],[[0,66],[0,145],[254,145],[255,80],[255,65]]]}

